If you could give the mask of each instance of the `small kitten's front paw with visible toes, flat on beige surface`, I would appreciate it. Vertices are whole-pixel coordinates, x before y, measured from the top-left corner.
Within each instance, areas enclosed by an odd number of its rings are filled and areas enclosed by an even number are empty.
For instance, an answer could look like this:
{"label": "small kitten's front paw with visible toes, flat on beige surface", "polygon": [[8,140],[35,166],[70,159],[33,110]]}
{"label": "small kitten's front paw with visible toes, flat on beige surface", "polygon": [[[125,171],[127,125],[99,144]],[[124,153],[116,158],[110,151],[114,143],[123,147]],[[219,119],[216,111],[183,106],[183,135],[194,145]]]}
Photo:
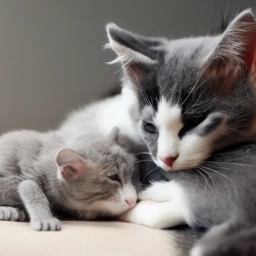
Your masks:
{"label": "small kitten's front paw with visible toes, flat on beige surface", "polygon": [[61,222],[57,218],[36,218],[30,220],[30,226],[35,231],[58,231]]}

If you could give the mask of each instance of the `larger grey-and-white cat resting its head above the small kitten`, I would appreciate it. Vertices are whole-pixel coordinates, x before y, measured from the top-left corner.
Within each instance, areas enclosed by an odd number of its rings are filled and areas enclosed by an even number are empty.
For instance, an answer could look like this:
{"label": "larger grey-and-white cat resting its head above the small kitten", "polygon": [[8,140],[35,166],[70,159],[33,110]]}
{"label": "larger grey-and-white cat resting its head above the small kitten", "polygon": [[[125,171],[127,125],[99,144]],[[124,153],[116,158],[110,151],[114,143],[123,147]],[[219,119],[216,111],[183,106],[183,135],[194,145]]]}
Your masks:
{"label": "larger grey-and-white cat resting its head above the small kitten", "polygon": [[169,180],[141,191],[153,202],[121,219],[209,228],[191,251],[208,255],[225,235],[256,224],[255,16],[245,9],[217,36],[150,38],[114,23],[106,31],[117,54],[110,64],[121,62],[123,87],[136,96],[135,126]]}

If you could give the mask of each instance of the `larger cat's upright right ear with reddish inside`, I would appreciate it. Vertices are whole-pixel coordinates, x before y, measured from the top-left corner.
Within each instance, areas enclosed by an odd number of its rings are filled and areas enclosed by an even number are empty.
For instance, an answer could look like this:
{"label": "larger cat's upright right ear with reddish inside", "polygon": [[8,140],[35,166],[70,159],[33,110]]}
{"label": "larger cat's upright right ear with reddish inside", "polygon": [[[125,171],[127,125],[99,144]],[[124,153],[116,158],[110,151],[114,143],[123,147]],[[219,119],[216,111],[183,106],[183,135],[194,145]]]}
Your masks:
{"label": "larger cat's upright right ear with reddish inside", "polygon": [[251,9],[245,9],[230,22],[207,57],[204,74],[228,85],[246,71],[253,76],[255,63],[256,19]]}

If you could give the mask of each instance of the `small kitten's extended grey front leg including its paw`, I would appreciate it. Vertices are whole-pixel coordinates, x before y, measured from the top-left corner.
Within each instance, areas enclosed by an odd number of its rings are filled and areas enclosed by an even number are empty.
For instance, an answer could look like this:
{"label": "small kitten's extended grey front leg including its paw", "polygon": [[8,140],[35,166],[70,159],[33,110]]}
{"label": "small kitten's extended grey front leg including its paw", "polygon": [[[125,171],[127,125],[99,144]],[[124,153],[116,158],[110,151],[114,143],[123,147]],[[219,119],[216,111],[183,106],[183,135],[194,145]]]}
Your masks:
{"label": "small kitten's extended grey front leg including its paw", "polygon": [[33,230],[60,230],[60,221],[52,216],[49,202],[35,181],[22,181],[18,191],[30,216],[30,225]]}

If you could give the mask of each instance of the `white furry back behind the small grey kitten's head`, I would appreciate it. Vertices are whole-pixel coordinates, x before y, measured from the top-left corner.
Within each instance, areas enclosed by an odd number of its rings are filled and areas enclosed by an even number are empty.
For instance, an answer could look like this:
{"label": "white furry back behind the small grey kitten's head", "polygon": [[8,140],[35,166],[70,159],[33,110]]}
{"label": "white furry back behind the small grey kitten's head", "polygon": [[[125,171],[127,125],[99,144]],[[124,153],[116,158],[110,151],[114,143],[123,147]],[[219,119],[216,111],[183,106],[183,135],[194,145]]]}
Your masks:
{"label": "white furry back behind the small grey kitten's head", "polygon": [[[93,137],[95,134],[101,134],[102,137],[107,137],[110,130],[117,126],[120,132],[127,135],[134,141],[141,141],[140,136],[136,132],[133,117],[130,114],[135,112],[137,104],[136,98],[132,94],[118,94],[116,96],[92,103],[84,108],[74,111],[73,114],[61,125],[60,132],[68,138],[66,144],[72,143],[75,139],[87,135],[88,132]],[[133,112],[132,112],[133,111]],[[89,125],[84,120],[88,119],[88,113],[93,112],[94,115],[89,119]]]}

